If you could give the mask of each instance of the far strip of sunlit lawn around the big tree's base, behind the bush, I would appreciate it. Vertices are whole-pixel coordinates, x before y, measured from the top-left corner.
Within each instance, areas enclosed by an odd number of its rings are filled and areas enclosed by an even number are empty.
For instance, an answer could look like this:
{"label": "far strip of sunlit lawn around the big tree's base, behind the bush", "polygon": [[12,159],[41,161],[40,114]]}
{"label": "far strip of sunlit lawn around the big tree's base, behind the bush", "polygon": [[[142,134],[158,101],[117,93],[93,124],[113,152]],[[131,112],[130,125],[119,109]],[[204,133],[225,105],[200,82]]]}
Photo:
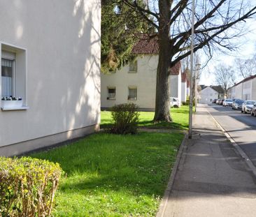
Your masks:
{"label": "far strip of sunlit lawn around the big tree's base, behind the bush", "polygon": [[[161,122],[153,123],[152,119],[154,118],[154,112],[140,112],[138,126],[145,128],[173,128],[180,130],[188,129],[188,116],[189,116],[189,107],[188,105],[183,105],[180,108],[171,108],[171,118],[173,119],[172,123]],[[101,112],[101,128],[110,128],[111,127],[111,112],[104,111]]]}

